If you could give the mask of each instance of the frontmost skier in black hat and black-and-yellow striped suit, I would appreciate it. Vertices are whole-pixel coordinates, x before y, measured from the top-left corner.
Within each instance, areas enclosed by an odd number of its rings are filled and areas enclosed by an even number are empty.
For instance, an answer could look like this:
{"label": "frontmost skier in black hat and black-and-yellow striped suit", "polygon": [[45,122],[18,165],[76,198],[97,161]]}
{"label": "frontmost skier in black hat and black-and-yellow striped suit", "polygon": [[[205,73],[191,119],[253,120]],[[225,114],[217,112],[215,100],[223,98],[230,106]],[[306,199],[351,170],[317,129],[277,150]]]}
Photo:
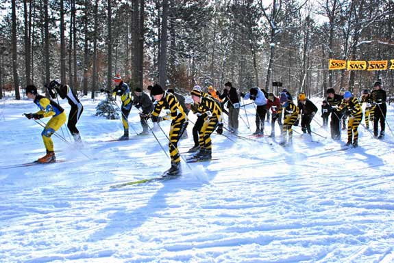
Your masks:
{"label": "frontmost skier in black hat and black-and-yellow striped suit", "polygon": [[[169,152],[171,157],[171,168],[164,172],[164,176],[176,176],[181,174],[180,152],[177,143],[188,126],[188,117],[180,106],[175,95],[164,92],[158,84],[151,88],[151,96],[157,100],[157,104],[151,114],[153,122],[162,120],[172,120],[169,133]],[[162,109],[169,109],[170,113],[167,117],[159,117]]]}

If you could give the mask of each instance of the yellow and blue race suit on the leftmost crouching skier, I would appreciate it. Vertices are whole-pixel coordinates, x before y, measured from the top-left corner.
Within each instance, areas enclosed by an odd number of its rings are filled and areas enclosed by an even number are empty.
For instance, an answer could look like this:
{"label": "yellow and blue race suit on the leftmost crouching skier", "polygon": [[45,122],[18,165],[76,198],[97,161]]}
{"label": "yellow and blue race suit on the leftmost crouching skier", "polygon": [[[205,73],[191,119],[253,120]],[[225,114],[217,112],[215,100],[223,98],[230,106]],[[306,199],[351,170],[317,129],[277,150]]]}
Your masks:
{"label": "yellow and blue race suit on the leftmost crouching skier", "polygon": [[36,96],[34,103],[40,109],[36,114],[43,115],[43,117],[52,116],[51,120],[49,120],[47,125],[45,125],[44,130],[42,130],[41,136],[42,141],[44,141],[45,148],[47,149],[47,153],[53,152],[53,141],[51,136],[66,122],[66,113],[64,113],[64,109],[60,107],[58,103],[41,95]]}

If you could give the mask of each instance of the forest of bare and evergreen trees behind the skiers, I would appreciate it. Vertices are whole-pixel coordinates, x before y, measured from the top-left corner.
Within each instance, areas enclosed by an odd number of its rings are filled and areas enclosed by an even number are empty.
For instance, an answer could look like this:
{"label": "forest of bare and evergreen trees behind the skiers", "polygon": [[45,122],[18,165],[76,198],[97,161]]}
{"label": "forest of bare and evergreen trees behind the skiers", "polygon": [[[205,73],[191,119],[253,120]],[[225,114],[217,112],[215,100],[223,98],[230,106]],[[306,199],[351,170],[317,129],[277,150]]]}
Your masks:
{"label": "forest of bare and evergreen trees behind the skiers", "polygon": [[95,98],[116,73],[132,89],[394,92],[394,70],[328,70],[394,59],[391,0],[3,0],[0,14],[0,98],[52,79]]}

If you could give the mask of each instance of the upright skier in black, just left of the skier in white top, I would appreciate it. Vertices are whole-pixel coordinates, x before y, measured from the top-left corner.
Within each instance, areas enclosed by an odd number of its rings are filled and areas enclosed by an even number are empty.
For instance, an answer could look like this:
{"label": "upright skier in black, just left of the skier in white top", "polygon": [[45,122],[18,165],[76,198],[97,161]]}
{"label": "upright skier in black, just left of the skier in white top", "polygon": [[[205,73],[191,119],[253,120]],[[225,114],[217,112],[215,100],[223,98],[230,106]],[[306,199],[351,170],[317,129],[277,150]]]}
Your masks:
{"label": "upright skier in black, just left of the skier in white top", "polygon": [[230,81],[224,84],[223,94],[219,96],[223,100],[223,104],[227,102],[228,108],[228,126],[231,133],[238,133],[238,115],[239,115],[239,98],[236,88],[232,86]]}

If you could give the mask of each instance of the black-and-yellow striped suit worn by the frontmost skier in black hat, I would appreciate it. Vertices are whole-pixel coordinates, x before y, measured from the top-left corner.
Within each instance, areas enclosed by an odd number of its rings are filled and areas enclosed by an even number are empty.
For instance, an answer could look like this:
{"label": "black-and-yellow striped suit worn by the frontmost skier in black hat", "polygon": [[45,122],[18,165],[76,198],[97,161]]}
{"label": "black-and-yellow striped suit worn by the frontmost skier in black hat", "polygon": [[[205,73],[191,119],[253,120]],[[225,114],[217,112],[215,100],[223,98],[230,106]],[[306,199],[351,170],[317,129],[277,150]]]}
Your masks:
{"label": "black-and-yellow striped suit worn by the frontmost skier in black hat", "polygon": [[[164,93],[162,99],[158,101],[155,109],[153,109],[152,116],[157,118],[160,115],[160,111],[162,111],[162,109],[169,109],[171,114],[169,117],[172,120],[169,134],[171,162],[179,163],[181,160],[177,143],[188,126],[188,118],[177,98],[171,93]],[[164,118],[164,120],[166,120],[166,118]]]}

